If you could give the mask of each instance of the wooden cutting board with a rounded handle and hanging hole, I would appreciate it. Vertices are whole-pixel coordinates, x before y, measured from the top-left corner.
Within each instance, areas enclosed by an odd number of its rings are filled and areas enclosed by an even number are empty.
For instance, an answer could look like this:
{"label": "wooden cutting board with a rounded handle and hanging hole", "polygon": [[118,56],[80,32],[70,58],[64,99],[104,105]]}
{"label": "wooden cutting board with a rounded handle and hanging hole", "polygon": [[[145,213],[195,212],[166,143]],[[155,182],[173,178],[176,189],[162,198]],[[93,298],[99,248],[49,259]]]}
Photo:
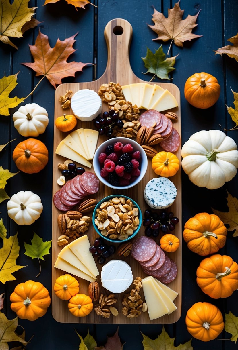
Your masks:
{"label": "wooden cutting board with a rounded handle and hanging hole", "polygon": [[[131,65],[129,62],[129,47],[132,39],[132,26],[129,22],[127,22],[124,19],[114,19],[111,20],[109,23],[107,23],[105,30],[104,30],[105,40],[107,43],[107,49],[108,49],[108,61],[106,70],[101,78],[98,80],[95,80],[94,82],[87,82],[87,83],[68,83],[68,84],[61,84],[57,87],[55,91],[55,112],[54,112],[54,118],[61,116],[64,113],[72,114],[72,110],[62,110],[61,104],[59,103],[59,98],[61,95],[64,95],[66,90],[71,89],[74,93],[78,91],[79,89],[91,89],[98,91],[99,87],[103,83],[109,83],[109,82],[115,82],[120,83],[121,85],[131,84],[131,83],[140,83],[145,82],[144,80],[139,79],[135,76],[131,69]],[[154,84],[154,83],[151,83]],[[174,108],[173,112],[175,112],[178,115],[178,121],[177,123],[173,123],[173,127],[176,128],[176,130],[181,135],[181,119],[180,119],[180,92],[176,85],[171,83],[156,83],[157,85],[163,87],[164,89],[168,89],[176,98],[178,102],[178,107]],[[107,111],[108,107],[107,104],[103,103],[103,112]],[[93,121],[92,122],[82,122],[78,120],[76,128],[94,128]],[[57,179],[61,175],[60,171],[58,170],[58,163],[63,163],[65,161],[65,158],[55,154],[55,149],[58,146],[59,142],[64,139],[67,136],[68,133],[62,133],[60,132],[56,127],[54,127],[54,157],[53,157],[53,195],[55,192],[59,189],[59,186],[57,184]],[[106,140],[105,137],[99,136],[98,139],[98,146],[102,144]],[[156,147],[156,146],[155,146]],[[157,146],[158,151],[162,150]],[[176,152],[176,155],[181,160],[181,146],[179,150]],[[86,170],[94,171],[93,168]],[[134,199],[134,201],[139,204],[142,213],[145,209],[148,209],[148,206],[146,205],[144,198],[143,198],[143,191],[147,184],[147,182],[154,177],[157,177],[157,175],[154,173],[154,171],[151,168],[151,159],[148,159],[148,170],[142,181],[137,184],[136,186],[132,187],[131,189],[127,191],[115,191],[113,189],[110,189],[109,187],[104,186],[102,183],[100,184],[100,189],[98,193],[95,196],[91,196],[93,198],[97,198],[98,202],[111,194],[120,194],[121,196],[127,195]],[[174,201],[173,205],[167,209],[169,211],[173,211],[174,216],[177,216],[179,218],[179,224],[176,225],[176,229],[172,232],[174,235],[176,235],[180,242],[182,240],[182,229],[181,229],[181,172],[180,170],[177,172],[175,176],[170,178],[170,180],[175,184],[178,194],[176,197],[176,200]],[[182,257],[182,247],[180,246],[179,249],[174,252],[168,254],[171,259],[173,259],[177,266],[178,266],[178,274],[176,279],[169,283],[169,287],[176,290],[176,292],[179,293],[178,297],[175,299],[174,303],[177,306],[177,310],[174,311],[170,315],[165,315],[161,318],[158,318],[157,320],[150,321],[148,313],[141,313],[141,315],[137,318],[127,318],[126,316],[122,315],[121,308],[122,304],[121,301],[124,297],[124,293],[116,294],[115,297],[118,299],[117,303],[113,306],[116,307],[119,311],[118,316],[110,316],[110,318],[103,318],[101,316],[97,316],[95,311],[93,310],[87,317],[81,317],[77,318],[70,314],[68,311],[67,301],[60,300],[58,297],[55,296],[53,286],[55,279],[57,279],[60,275],[65,274],[64,271],[60,271],[59,269],[54,268],[54,263],[57,259],[57,255],[62,247],[59,247],[57,245],[57,239],[61,235],[60,230],[57,225],[57,217],[61,214],[61,212],[55,208],[54,204],[52,203],[52,315],[54,319],[58,322],[69,322],[69,323],[173,323],[176,322],[180,316],[181,316],[181,271],[182,271],[182,265],[181,265],[181,257]],[[87,214],[88,215],[88,214]],[[90,213],[92,215],[92,213]],[[96,232],[93,229],[92,224],[90,224],[89,230],[86,232],[88,235],[88,238],[90,240],[90,243],[93,244],[95,238],[98,236]],[[141,226],[141,229],[139,233],[137,234],[139,236],[144,235],[144,227]],[[160,233],[159,237],[156,238],[156,242],[159,243],[159,239],[162,236],[162,233]],[[116,244],[116,247],[118,244]],[[115,253],[113,256],[111,256],[109,259],[117,259],[118,256]],[[107,259],[106,261],[109,261]],[[137,261],[135,261],[131,256],[124,258],[125,260],[132,268],[133,277],[141,277],[144,278],[146,275],[142,271],[140,265]],[[99,272],[101,272],[102,266],[98,265]],[[88,295],[88,285],[89,282],[78,279],[80,284],[80,293],[84,293]],[[97,281],[101,286],[101,292],[104,294],[110,294],[110,292],[104,290],[101,285],[100,275],[97,277]],[[129,288],[128,291],[132,289]],[[126,292],[128,292],[126,291]],[[144,300],[143,292],[141,291],[141,295]]]}

